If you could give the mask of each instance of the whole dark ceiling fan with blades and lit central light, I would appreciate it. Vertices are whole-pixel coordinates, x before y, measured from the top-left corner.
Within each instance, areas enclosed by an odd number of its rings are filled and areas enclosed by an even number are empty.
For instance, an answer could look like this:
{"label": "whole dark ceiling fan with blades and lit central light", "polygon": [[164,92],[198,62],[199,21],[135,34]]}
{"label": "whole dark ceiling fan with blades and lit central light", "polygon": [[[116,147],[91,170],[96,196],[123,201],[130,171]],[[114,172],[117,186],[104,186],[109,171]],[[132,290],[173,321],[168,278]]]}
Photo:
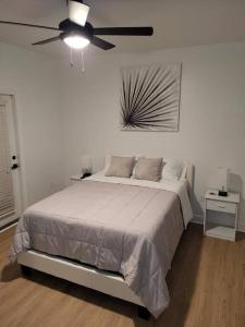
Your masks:
{"label": "whole dark ceiling fan with blades and lit central light", "polygon": [[60,35],[37,41],[33,44],[33,46],[62,40],[73,49],[83,49],[89,44],[93,44],[102,50],[110,50],[114,48],[114,45],[97,37],[97,35],[150,36],[154,34],[152,27],[94,27],[87,22],[89,5],[85,4],[83,0],[70,0],[66,2],[69,4],[69,19],[60,22],[59,27],[9,21],[0,21],[0,24],[2,23],[50,31],[60,31]]}

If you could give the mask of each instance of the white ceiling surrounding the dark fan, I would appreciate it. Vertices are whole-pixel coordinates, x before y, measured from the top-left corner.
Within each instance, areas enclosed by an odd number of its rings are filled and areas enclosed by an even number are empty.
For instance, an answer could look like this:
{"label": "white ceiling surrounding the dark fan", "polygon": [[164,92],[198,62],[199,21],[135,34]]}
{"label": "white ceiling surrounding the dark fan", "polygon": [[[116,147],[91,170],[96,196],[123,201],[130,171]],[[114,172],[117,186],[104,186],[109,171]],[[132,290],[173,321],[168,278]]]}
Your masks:
{"label": "white ceiling surrounding the dark fan", "polygon": [[[105,36],[120,51],[188,47],[245,40],[245,0],[85,0],[88,21],[95,26],[152,25],[152,37]],[[68,15],[65,0],[0,0],[0,20],[58,26]],[[0,25],[0,41],[40,53],[65,56],[66,46],[53,43],[38,47],[32,43],[58,33]],[[102,50],[89,46],[89,52]]]}

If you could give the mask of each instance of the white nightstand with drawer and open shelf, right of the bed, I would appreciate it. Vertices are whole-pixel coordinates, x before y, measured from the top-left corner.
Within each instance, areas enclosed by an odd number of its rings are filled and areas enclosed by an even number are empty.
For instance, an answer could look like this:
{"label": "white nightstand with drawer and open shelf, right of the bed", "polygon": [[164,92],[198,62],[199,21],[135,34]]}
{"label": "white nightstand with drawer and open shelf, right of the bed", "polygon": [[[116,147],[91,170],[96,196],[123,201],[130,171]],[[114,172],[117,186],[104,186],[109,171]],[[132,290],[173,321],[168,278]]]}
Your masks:
{"label": "white nightstand with drawer and open shelf, right of the bed", "polygon": [[[240,193],[229,192],[228,196],[219,196],[218,191],[208,190],[205,194],[204,234],[208,237],[235,241],[237,216],[240,206]],[[210,223],[208,211],[220,211],[234,216],[234,227]]]}

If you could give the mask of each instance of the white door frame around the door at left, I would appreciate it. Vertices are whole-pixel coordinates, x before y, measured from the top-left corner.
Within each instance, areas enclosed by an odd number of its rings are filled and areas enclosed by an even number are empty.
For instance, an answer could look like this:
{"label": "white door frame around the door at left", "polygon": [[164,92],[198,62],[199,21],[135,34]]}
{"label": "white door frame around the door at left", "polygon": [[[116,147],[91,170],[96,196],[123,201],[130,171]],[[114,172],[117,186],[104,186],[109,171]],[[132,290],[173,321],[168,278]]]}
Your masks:
{"label": "white door frame around the door at left", "polygon": [[[27,207],[27,185],[26,185],[26,162],[24,156],[24,142],[23,142],[23,130],[22,130],[22,116],[21,116],[21,105],[19,92],[14,89],[2,89],[0,88],[0,96],[10,96],[12,99],[12,117],[13,126],[15,133],[16,150],[20,161],[19,168],[19,183],[20,183],[20,216],[23,214],[24,209]],[[13,217],[3,218],[0,222],[0,228],[8,226],[11,221],[15,221]]]}

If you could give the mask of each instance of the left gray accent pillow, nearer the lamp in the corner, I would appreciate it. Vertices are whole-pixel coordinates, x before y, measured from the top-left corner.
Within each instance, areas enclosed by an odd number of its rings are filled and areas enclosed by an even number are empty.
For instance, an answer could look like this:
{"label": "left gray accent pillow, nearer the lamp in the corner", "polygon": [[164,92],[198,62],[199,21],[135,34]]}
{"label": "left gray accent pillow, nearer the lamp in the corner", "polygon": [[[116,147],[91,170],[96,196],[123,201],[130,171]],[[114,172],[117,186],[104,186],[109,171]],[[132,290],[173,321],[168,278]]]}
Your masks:
{"label": "left gray accent pillow, nearer the lamp in the corner", "polygon": [[111,157],[111,165],[106,172],[107,177],[130,178],[133,172],[135,157]]}

